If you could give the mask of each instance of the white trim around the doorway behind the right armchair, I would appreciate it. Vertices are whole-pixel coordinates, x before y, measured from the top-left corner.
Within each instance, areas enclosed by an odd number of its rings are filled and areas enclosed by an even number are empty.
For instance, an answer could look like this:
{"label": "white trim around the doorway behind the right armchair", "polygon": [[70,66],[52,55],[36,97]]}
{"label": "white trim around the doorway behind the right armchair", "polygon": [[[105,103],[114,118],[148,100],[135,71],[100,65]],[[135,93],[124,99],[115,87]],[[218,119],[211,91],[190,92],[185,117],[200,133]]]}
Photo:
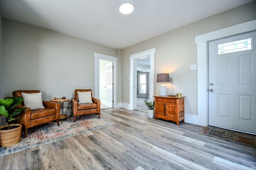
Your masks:
{"label": "white trim around the doorway behind the right armchair", "polygon": [[116,107],[116,61],[117,58],[110,56],[110,55],[104,55],[104,54],[100,54],[100,53],[95,53],[94,52],[94,75],[95,75],[95,79],[94,79],[94,88],[95,88],[95,97],[96,98],[100,98],[100,59],[102,60],[108,60],[108,61],[112,61],[113,62],[113,66],[114,66],[114,70],[113,70],[113,107]]}

